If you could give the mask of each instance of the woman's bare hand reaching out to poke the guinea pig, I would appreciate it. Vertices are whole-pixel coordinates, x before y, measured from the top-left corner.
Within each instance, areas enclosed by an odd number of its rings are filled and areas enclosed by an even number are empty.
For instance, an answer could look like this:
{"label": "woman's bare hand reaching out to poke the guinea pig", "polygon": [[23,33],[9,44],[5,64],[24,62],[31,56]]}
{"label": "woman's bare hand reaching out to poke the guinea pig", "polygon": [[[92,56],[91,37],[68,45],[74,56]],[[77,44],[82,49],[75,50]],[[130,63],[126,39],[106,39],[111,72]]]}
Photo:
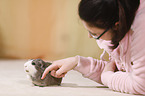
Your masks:
{"label": "woman's bare hand reaching out to poke the guinea pig", "polygon": [[44,79],[46,75],[51,71],[51,75],[56,78],[62,78],[65,74],[76,67],[78,63],[78,58],[70,57],[62,60],[57,60],[52,62],[52,65],[47,67],[42,75],[41,79]]}

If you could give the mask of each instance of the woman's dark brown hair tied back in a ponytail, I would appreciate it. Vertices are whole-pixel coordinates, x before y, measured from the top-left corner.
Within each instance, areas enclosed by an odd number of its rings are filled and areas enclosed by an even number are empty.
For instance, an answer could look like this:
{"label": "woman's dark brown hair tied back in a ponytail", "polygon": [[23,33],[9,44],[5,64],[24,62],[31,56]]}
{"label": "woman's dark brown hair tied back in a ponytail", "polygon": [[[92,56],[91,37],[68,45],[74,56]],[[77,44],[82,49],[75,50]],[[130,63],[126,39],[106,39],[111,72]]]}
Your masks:
{"label": "woman's dark brown hair tied back in a ponytail", "polygon": [[139,4],[140,0],[81,0],[78,11],[80,18],[92,26],[112,30],[111,48],[115,49],[130,30]]}

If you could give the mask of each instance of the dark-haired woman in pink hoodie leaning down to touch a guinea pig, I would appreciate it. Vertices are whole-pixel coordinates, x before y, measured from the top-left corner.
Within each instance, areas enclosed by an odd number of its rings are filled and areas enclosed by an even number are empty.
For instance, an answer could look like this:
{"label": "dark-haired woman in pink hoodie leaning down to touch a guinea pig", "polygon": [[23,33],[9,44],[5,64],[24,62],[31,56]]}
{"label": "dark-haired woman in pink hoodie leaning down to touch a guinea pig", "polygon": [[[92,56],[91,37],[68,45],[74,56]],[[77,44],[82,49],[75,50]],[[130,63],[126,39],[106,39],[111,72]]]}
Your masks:
{"label": "dark-haired woman in pink hoodie leaning down to touch a guinea pig", "polygon": [[42,79],[49,71],[60,78],[74,69],[112,90],[145,94],[145,0],[81,0],[79,16],[110,61],[103,55],[101,60],[82,56],[57,60]]}

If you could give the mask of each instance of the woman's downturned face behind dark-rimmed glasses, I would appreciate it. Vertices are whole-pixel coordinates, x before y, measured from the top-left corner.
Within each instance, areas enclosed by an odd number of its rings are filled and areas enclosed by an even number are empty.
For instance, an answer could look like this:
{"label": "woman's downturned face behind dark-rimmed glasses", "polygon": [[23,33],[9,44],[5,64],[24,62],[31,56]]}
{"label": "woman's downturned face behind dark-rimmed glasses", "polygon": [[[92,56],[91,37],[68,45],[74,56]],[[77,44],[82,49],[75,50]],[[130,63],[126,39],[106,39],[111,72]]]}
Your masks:
{"label": "woman's downturned face behind dark-rimmed glasses", "polygon": [[[100,36],[106,29],[100,29],[94,26],[89,26],[89,24],[85,21],[82,21],[84,27],[86,30],[88,30],[88,37],[93,38]],[[93,36],[92,36],[93,35]],[[111,30],[107,30],[101,37],[100,39],[103,40],[112,40],[112,33]]]}

